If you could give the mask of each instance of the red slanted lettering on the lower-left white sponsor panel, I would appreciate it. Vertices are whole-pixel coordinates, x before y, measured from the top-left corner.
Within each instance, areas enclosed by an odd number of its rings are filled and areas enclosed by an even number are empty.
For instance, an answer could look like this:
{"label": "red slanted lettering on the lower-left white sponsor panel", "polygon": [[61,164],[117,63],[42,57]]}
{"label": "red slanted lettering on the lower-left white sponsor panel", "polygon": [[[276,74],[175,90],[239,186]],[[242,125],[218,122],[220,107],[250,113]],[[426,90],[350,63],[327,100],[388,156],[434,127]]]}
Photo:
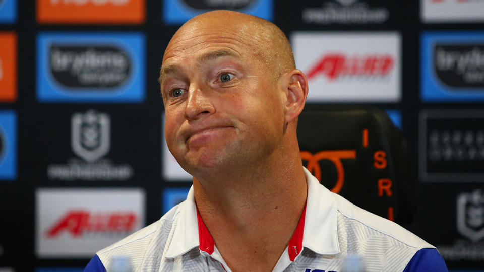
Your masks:
{"label": "red slanted lettering on the lower-left white sponsor panel", "polygon": [[51,225],[45,235],[48,238],[55,238],[65,232],[78,238],[96,233],[124,235],[135,230],[138,220],[133,212],[91,213],[71,210]]}

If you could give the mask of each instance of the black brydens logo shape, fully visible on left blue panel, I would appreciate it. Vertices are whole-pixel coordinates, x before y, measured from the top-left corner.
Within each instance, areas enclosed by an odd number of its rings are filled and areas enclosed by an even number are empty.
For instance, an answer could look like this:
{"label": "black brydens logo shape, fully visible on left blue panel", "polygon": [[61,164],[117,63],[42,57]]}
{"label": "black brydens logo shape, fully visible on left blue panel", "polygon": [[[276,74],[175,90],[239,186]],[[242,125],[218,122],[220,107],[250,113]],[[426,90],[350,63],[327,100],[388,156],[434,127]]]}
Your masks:
{"label": "black brydens logo shape, fully visible on left blue panel", "polygon": [[53,78],[66,87],[109,90],[130,77],[132,61],[115,46],[52,45],[49,56]]}

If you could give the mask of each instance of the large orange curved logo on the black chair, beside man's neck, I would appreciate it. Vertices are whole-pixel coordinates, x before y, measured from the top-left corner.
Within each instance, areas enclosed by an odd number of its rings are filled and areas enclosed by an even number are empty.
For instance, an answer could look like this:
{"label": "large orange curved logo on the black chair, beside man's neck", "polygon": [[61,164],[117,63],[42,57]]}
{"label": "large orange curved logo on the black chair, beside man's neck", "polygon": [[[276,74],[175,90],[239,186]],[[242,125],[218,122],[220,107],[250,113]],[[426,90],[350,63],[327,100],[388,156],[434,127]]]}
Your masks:
{"label": "large orange curved logo on the black chair, beside man's neck", "polygon": [[331,189],[334,193],[339,193],[341,188],[343,188],[344,183],[344,168],[341,163],[341,159],[355,159],[355,150],[331,150],[331,151],[320,151],[316,154],[311,154],[308,151],[301,151],[301,159],[308,161],[306,168],[314,174],[314,176],[321,182],[321,167],[319,166],[319,161],[330,160],[336,167],[338,173],[338,179],[336,184]]}

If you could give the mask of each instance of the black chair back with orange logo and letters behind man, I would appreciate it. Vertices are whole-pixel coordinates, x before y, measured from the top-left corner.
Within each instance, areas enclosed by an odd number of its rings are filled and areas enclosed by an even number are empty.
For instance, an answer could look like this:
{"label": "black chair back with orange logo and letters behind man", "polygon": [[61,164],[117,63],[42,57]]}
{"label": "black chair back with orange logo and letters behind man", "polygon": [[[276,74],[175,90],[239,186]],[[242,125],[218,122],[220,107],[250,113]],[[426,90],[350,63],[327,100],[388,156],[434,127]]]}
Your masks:
{"label": "black chair back with orange logo and letters behind man", "polygon": [[297,137],[304,165],[324,186],[374,214],[411,223],[416,206],[407,145],[384,111],[307,105]]}

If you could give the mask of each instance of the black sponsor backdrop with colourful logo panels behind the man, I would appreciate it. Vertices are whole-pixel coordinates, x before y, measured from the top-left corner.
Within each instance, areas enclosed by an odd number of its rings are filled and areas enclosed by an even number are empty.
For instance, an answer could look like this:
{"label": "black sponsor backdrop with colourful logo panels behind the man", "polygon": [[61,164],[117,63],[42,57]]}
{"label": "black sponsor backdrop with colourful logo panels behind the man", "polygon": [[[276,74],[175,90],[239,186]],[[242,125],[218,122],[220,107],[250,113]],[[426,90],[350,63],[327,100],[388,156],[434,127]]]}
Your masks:
{"label": "black sponsor backdrop with colourful logo panels behind the man", "polygon": [[[213,9],[279,25],[309,104],[384,109],[409,146],[405,225],[484,267],[484,1],[0,0],[0,271],[80,271],[183,201],[157,83],[176,29]],[[317,137],[317,135],[315,135]]]}

